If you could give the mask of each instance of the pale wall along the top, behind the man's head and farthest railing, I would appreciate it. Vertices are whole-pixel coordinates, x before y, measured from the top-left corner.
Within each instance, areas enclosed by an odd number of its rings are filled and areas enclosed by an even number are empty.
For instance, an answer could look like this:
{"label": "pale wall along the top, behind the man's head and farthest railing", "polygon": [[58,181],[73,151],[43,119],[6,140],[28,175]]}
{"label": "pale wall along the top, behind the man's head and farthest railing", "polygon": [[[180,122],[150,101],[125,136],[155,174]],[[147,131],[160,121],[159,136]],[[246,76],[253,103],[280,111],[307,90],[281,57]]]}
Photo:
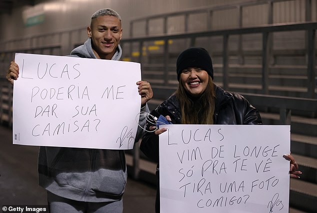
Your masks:
{"label": "pale wall along the top, behind the man's head and farthest railing", "polygon": [[[251,2],[252,0],[44,0],[34,6],[14,8],[11,14],[0,15],[0,50],[28,49],[43,46],[61,46],[61,54],[68,54],[75,45],[86,38],[86,27],[89,25],[91,14],[99,9],[110,7],[122,17],[123,38],[129,36],[129,22],[132,19],[154,14],[163,14],[193,8],[223,6]],[[312,20],[317,19],[317,0],[311,0]],[[264,2],[254,0],[254,2]],[[305,0],[288,0],[274,2],[273,23],[298,22],[305,19]],[[267,24],[268,5],[250,5],[242,8],[242,26]],[[44,21],[26,26],[23,18],[43,14]],[[206,29],[225,29],[239,27],[239,9],[223,9],[212,12],[211,23],[207,24],[207,13],[196,13],[188,16],[188,31]],[[167,18],[167,33],[185,31],[184,16]],[[73,31],[71,31],[73,30]],[[71,33],[70,33],[71,31]],[[62,33],[59,33],[62,32]],[[46,37],[39,37],[39,35]],[[133,36],[144,36],[145,21],[133,25]],[[149,21],[149,35],[163,33],[163,18]],[[255,36],[256,37],[256,36]],[[244,42],[253,42],[252,36],[244,36]],[[234,42],[233,42],[234,43]],[[252,46],[252,45],[249,45]],[[257,46],[257,45],[256,45]],[[55,50],[54,50],[55,51]]]}

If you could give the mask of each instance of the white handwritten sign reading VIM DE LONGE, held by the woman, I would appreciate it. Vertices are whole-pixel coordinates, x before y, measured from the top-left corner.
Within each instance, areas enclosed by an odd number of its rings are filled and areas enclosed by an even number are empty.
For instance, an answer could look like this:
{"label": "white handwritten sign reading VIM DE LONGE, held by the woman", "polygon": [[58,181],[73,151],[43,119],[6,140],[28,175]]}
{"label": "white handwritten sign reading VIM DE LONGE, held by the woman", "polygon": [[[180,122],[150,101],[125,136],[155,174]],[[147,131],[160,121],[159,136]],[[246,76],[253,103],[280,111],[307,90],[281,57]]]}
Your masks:
{"label": "white handwritten sign reading VIM DE LONGE, held by the woman", "polygon": [[289,125],[163,125],[161,212],[288,212]]}

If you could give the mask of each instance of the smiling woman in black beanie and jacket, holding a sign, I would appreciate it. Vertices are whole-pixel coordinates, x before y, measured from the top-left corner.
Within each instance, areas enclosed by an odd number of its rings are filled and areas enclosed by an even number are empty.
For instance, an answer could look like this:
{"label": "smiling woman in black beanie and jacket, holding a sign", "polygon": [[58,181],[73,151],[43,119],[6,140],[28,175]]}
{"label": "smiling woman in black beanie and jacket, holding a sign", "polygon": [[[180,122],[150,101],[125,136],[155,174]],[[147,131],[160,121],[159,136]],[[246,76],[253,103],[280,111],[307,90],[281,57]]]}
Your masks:
{"label": "smiling woman in black beanie and jacket, holding a sign", "polygon": [[[225,91],[213,83],[211,58],[204,48],[191,47],[181,52],[176,61],[176,72],[178,88],[152,111],[153,114],[159,113],[174,124],[262,124],[257,109],[242,95]],[[151,125],[147,124],[152,131],[145,133],[140,149],[158,162],[158,134],[167,129],[155,130],[156,126]],[[159,212],[158,172],[157,165],[156,212]]]}

